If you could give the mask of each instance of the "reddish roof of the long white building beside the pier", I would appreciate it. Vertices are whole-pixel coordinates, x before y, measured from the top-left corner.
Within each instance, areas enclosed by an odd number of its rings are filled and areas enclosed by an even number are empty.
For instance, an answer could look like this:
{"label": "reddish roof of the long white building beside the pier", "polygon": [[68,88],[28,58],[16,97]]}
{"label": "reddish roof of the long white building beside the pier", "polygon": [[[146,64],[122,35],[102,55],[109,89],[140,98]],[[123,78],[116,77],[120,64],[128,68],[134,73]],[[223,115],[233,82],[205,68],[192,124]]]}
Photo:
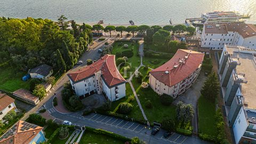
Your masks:
{"label": "reddish roof of the long white building beside the pier", "polygon": [[206,34],[228,34],[228,31],[236,31],[243,38],[256,36],[256,27],[246,23],[206,24],[204,28]]}

